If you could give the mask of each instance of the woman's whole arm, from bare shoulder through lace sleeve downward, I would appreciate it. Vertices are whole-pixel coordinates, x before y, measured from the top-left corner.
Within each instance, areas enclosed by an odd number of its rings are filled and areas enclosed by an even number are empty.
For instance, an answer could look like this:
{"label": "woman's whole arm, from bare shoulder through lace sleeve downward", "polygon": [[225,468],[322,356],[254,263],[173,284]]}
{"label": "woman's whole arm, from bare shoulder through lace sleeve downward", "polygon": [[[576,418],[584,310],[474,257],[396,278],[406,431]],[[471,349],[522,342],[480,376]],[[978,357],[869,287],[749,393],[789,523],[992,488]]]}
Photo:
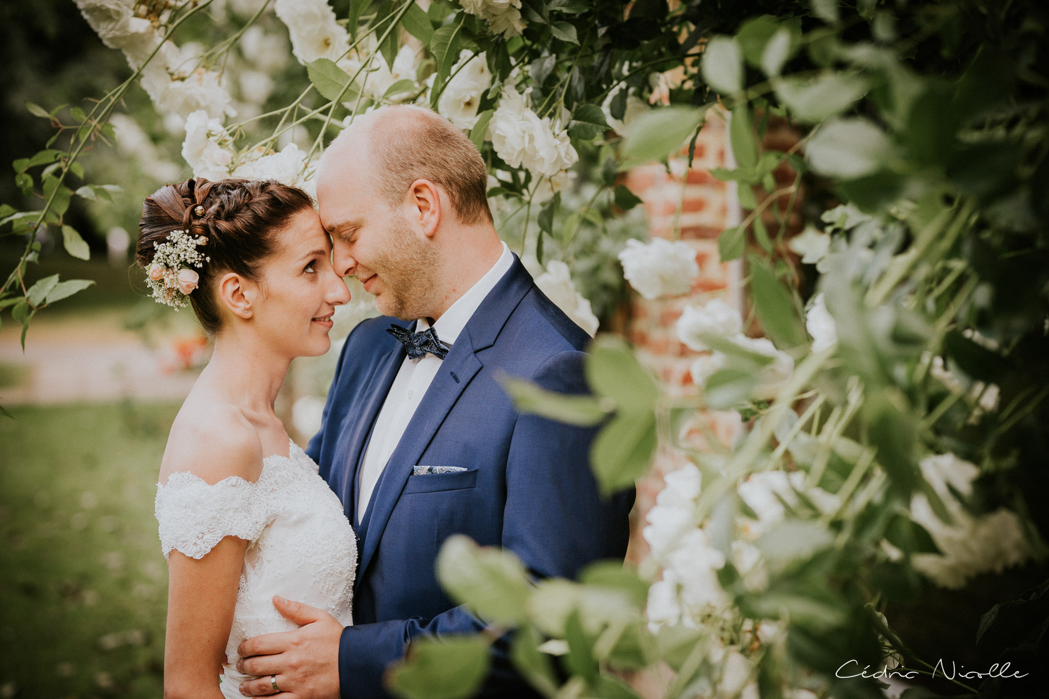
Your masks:
{"label": "woman's whole arm, from bare shoulder through lace sleeve downward", "polygon": [[165,699],[222,697],[244,552],[264,526],[253,489],[261,467],[258,435],[235,410],[197,411],[172,429],[156,508],[170,550]]}

